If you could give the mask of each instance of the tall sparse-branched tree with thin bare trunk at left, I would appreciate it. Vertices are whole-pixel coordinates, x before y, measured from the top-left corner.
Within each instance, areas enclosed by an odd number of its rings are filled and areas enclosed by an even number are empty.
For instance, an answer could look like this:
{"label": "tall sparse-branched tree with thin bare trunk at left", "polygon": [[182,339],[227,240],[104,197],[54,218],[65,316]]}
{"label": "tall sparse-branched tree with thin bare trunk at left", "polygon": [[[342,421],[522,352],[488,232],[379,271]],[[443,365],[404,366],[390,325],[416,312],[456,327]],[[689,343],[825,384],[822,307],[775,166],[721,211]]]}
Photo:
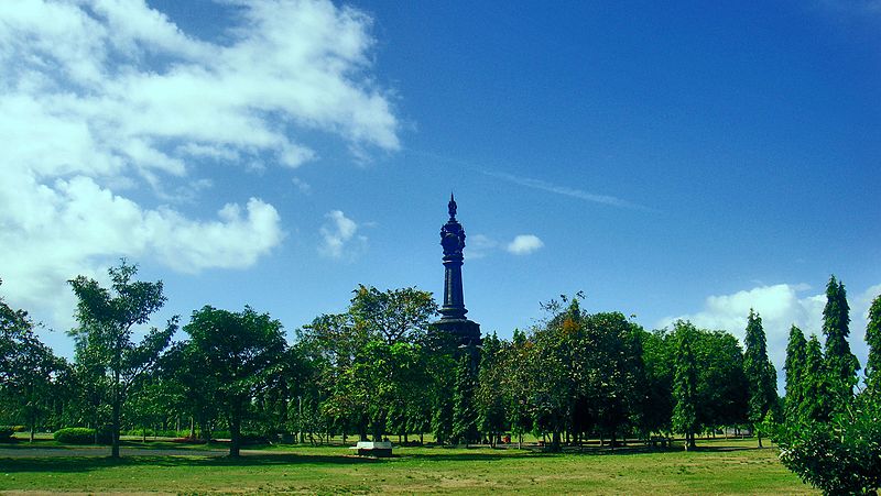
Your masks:
{"label": "tall sparse-branched tree with thin bare trunk at left", "polygon": [[150,329],[140,344],[132,341],[135,327],[149,322],[165,304],[162,282],[133,280],[137,273],[138,266],[123,260],[108,269],[110,289],[85,276],[68,282],[79,300],[79,327],[70,334],[110,376],[112,458],[119,458],[120,415],[130,387],[154,366],[177,330],[177,317],[173,317],[164,329]]}

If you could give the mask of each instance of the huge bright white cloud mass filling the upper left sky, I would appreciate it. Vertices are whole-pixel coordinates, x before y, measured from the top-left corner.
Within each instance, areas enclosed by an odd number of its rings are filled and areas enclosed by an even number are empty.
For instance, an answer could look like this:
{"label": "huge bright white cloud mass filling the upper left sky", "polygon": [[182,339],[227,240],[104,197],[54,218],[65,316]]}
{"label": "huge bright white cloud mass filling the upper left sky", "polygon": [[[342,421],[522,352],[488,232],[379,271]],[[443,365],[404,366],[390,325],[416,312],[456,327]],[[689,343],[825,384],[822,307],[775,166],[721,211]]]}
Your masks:
{"label": "huge bright white cloud mass filling the upper left sky", "polygon": [[65,280],[120,256],[182,272],[250,266],[281,242],[280,216],[257,198],[215,198],[208,218],[182,210],[211,187],[213,168],[296,167],[317,156],[305,136],[322,133],[355,158],[399,148],[366,14],[326,0],[208,8],[235,24],[213,41],[143,0],[0,2],[11,304],[63,301]]}

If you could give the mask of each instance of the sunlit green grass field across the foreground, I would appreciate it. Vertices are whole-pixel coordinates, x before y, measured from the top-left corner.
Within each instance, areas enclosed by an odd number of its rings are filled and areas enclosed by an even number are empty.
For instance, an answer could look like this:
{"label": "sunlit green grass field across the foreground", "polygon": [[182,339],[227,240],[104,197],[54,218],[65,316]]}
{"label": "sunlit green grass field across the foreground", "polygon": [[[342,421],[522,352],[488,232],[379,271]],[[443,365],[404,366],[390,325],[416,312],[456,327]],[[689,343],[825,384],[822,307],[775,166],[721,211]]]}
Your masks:
{"label": "sunlit green grass field across the foreground", "polygon": [[[754,441],[705,441],[693,452],[619,449],[548,454],[527,450],[400,448],[384,460],[342,447],[272,447],[239,460],[206,455],[0,454],[0,492],[118,494],[816,494]],[[148,443],[151,444],[151,443]],[[171,443],[152,443],[166,449]],[[180,448],[180,447],[174,447]],[[217,447],[215,447],[217,448]],[[205,447],[195,447],[205,450]],[[96,453],[106,453],[106,449]]]}

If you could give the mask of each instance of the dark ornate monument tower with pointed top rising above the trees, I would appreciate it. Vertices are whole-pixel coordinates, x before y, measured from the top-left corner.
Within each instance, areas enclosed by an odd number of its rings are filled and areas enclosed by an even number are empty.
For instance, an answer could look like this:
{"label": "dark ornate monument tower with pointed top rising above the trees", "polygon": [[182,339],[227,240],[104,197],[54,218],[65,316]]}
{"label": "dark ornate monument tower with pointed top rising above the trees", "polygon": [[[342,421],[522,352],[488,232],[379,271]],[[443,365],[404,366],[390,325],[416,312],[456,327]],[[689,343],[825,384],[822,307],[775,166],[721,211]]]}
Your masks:
{"label": "dark ornate monument tower with pointed top rising above the trees", "polygon": [[444,305],[440,320],[434,323],[437,331],[453,338],[458,346],[480,344],[480,324],[465,315],[465,296],[461,289],[461,264],[464,261],[465,229],[456,220],[456,199],[449,195],[449,220],[440,228],[440,245],[444,247]]}

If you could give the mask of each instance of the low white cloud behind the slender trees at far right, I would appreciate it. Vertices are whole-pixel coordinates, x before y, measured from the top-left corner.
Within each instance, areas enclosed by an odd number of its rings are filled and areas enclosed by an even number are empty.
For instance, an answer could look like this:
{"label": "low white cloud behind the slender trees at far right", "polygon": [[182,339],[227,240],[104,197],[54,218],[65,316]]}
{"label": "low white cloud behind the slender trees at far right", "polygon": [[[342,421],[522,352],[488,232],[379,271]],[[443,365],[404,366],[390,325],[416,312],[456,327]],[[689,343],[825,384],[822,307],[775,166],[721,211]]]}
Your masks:
{"label": "low white cloud behind the slender trees at far right", "polygon": [[[786,360],[786,341],[792,324],[804,331],[806,337],[817,334],[823,342],[823,308],[826,306],[825,290],[809,294],[805,284],[777,284],[760,286],[732,295],[707,297],[704,309],[696,313],[667,317],[657,322],[659,328],[670,327],[675,320],[690,320],[695,326],[706,329],[722,329],[736,335],[741,343],[747,328],[750,308],[762,317],[762,328],[768,340],[768,353],[777,370],[777,382],[782,390],[784,381],[783,363]],[[866,319],[872,298],[881,293],[881,285],[872,286],[855,296],[848,295],[850,304],[850,348],[861,365],[866,364],[868,350],[863,335]]]}

